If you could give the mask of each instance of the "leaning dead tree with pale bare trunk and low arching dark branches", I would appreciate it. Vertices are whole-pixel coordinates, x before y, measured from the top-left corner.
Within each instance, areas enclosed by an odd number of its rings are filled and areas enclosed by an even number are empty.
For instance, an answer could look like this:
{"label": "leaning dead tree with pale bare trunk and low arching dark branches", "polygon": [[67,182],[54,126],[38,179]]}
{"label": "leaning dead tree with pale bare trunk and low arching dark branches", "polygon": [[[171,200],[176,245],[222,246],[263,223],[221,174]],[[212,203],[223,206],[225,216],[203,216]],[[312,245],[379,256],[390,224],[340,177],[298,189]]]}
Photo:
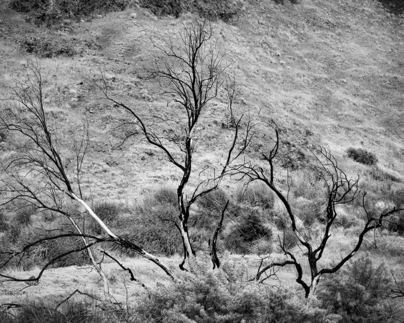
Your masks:
{"label": "leaning dead tree with pale bare trunk and low arching dark branches", "polygon": [[[83,246],[51,259],[42,267],[37,277],[18,279],[4,273],[0,273],[0,277],[5,280],[37,281],[47,266],[67,254],[81,250],[89,250],[89,256],[94,267],[103,277],[100,265],[95,262],[90,248],[100,242],[111,242],[134,250],[157,264],[169,277],[174,279],[175,277],[167,265],[156,256],[143,250],[136,242],[119,237],[112,232],[83,199],[80,188],[80,172],[88,148],[87,128],[84,125],[84,135],[81,140],[73,141],[73,143],[64,142],[63,144],[71,145],[75,151],[76,165],[73,169],[69,169],[65,165],[65,156],[61,152],[62,145],[59,143],[58,130],[48,122],[43,104],[43,81],[39,68],[33,63],[28,64],[27,70],[27,81],[18,80],[13,86],[5,86],[10,92],[10,97],[3,99],[3,101],[9,101],[14,105],[4,107],[0,114],[0,129],[14,133],[18,142],[14,151],[8,156],[7,164],[3,165],[5,172],[1,187],[5,199],[3,205],[23,202],[35,205],[39,210],[49,210],[62,214],[71,221],[76,232],[50,235],[24,246],[22,250],[13,250],[9,253],[9,257],[0,263],[0,268],[5,266],[13,257],[24,256],[27,248],[45,240],[72,236],[82,239]],[[72,181],[71,178],[74,176],[77,178]],[[70,200],[76,207],[84,207],[87,214],[102,228],[106,237],[96,237],[83,233],[71,217],[67,200]]]}

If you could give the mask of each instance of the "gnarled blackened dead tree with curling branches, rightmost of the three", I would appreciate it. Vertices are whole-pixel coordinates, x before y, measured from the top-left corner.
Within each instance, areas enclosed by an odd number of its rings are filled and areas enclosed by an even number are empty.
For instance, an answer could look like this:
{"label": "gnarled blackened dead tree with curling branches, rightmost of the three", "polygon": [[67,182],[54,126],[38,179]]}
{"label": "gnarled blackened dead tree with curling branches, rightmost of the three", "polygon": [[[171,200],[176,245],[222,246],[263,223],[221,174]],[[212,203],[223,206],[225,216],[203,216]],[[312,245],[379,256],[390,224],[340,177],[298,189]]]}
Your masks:
{"label": "gnarled blackened dead tree with curling branches, rightmost of the three", "polygon": [[[345,256],[341,256],[341,260],[331,267],[319,268],[319,260],[323,256],[324,250],[326,248],[328,239],[331,237],[331,229],[334,224],[335,219],[338,216],[336,206],[338,204],[350,203],[354,199],[359,197],[358,182],[359,177],[355,180],[349,179],[338,166],[337,160],[331,154],[328,148],[314,145],[311,147],[311,151],[315,157],[315,163],[311,164],[315,167],[316,171],[321,174],[321,178],[325,183],[327,188],[327,200],[326,200],[326,210],[325,210],[325,223],[324,230],[320,241],[310,241],[305,238],[304,234],[300,232],[296,226],[296,217],[288,201],[288,191],[284,192],[277,187],[275,183],[275,157],[278,152],[279,147],[279,133],[277,126],[274,122],[271,123],[275,132],[275,144],[270,149],[269,152],[261,151],[262,157],[269,166],[269,170],[265,170],[263,167],[258,166],[252,162],[244,163],[233,167],[233,174],[241,175],[246,178],[248,182],[261,181],[265,183],[272,192],[275,193],[277,198],[281,201],[285,207],[287,216],[290,220],[290,229],[297,238],[298,244],[302,250],[305,250],[305,256],[310,267],[310,281],[305,282],[304,267],[298,262],[296,257],[292,252],[290,252],[285,246],[285,241],[280,239],[280,248],[283,250],[287,260],[284,261],[273,261],[267,266],[260,266],[256,276],[253,280],[261,281],[261,276],[272,268],[283,267],[283,266],[293,266],[295,268],[297,278],[296,282],[305,290],[305,296],[309,297],[312,295],[320,278],[325,274],[334,274],[339,268],[341,268],[350,258],[352,258],[355,253],[360,249],[365,235],[372,230],[375,230],[383,226],[383,223],[388,220],[392,214],[401,212],[403,209],[392,209],[380,214],[378,217],[370,216],[366,211],[365,207],[365,194],[363,195],[363,208],[367,216],[367,221],[365,227],[362,229],[361,233],[358,235],[358,241],[352,250]],[[264,278],[265,280],[266,278]]]}

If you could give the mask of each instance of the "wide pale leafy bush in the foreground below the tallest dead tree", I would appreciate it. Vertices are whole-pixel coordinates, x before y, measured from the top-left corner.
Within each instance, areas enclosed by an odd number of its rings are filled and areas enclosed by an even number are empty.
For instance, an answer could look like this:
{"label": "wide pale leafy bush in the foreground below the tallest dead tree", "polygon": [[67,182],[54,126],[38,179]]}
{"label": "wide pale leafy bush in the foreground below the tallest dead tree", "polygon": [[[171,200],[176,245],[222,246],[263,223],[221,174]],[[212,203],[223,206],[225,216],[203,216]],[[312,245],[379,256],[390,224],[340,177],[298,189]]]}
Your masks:
{"label": "wide pale leafy bush in the foreground below the tallest dead tree", "polygon": [[341,318],[314,299],[309,302],[282,288],[247,283],[250,273],[239,260],[224,259],[220,270],[199,267],[194,273],[143,297],[136,310],[139,322],[336,323]]}

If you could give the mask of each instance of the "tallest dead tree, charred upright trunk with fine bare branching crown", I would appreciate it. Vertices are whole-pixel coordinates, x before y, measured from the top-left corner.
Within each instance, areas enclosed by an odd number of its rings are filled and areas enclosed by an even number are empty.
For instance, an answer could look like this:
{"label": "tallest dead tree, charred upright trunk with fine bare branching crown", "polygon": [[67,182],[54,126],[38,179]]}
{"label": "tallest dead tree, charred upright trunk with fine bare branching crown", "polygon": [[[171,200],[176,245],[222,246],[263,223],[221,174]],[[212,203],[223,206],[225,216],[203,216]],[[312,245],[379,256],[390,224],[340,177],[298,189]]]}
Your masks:
{"label": "tallest dead tree, charred upright trunk with fine bare branching crown", "polygon": [[[166,111],[156,110],[150,111],[150,118],[145,117],[136,106],[124,103],[110,95],[104,75],[103,83],[99,88],[104,98],[121,107],[131,118],[131,121],[125,122],[124,126],[131,125],[134,128],[126,132],[123,142],[140,132],[142,138],[151,146],[160,149],[167,161],[182,174],[177,187],[177,201],[178,227],[184,247],[184,259],[180,264],[183,270],[186,259],[194,255],[188,230],[190,208],[200,197],[218,188],[227,174],[229,165],[248,147],[251,138],[254,137],[251,134],[254,125],[248,120],[244,126],[243,135],[240,135],[243,116],[237,118],[233,113],[233,102],[236,96],[234,78],[225,77],[227,66],[223,63],[223,53],[218,48],[217,41],[212,39],[211,25],[203,21],[193,23],[189,27],[184,26],[179,36],[180,40],[175,43],[170,40],[167,48],[151,40],[161,57],[155,57],[154,69],[148,71],[150,72],[148,78],[158,79],[164,94],[172,97],[174,117]],[[214,169],[210,178],[199,180],[194,187],[189,187],[189,180],[194,171],[195,148],[203,137],[199,133],[198,138],[195,138],[195,132],[198,131],[196,128],[204,118],[208,103],[218,95],[223,86],[227,90],[227,113],[232,140],[225,152],[225,159],[220,169]],[[154,126],[150,126],[150,123]],[[205,174],[206,171],[207,169],[202,169],[194,173],[200,175]],[[190,192],[189,196],[186,196],[187,192]]]}

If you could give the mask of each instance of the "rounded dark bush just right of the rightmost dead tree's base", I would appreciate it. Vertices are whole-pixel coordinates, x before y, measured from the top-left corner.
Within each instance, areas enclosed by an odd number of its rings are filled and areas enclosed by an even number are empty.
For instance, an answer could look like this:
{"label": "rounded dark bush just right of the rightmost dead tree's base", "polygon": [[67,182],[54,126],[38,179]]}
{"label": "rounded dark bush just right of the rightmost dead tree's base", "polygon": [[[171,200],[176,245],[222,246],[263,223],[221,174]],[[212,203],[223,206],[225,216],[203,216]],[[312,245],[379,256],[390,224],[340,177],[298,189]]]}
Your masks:
{"label": "rounded dark bush just right of the rightmost dead tree's base", "polygon": [[387,297],[391,275],[385,265],[375,265],[369,255],[348,263],[336,275],[325,276],[318,296],[324,307],[344,321],[385,322],[392,314]]}

